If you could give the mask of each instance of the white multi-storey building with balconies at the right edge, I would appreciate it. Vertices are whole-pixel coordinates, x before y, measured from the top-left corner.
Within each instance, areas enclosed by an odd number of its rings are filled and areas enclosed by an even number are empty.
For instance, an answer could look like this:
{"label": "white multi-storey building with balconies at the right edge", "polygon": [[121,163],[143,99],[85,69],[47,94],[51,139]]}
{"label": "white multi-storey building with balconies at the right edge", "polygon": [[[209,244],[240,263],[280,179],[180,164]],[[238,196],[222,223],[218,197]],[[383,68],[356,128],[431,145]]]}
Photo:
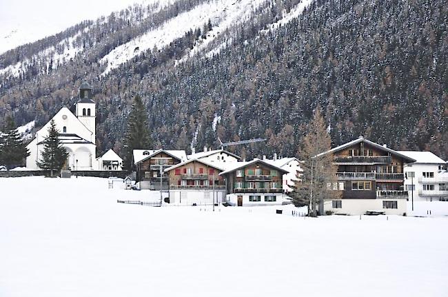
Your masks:
{"label": "white multi-storey building with balconies at the right edge", "polygon": [[405,189],[409,192],[409,201],[448,200],[448,173],[442,170],[445,161],[432,152],[399,153],[416,159],[415,163],[404,167]]}

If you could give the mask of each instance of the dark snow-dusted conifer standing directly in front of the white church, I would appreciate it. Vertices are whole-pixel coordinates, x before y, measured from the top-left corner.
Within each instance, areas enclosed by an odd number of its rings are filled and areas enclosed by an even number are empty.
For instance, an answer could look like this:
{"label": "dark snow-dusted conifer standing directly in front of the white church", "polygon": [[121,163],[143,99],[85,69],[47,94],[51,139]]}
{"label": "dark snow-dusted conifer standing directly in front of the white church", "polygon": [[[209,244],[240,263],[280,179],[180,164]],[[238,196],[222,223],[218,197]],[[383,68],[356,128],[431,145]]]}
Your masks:
{"label": "dark snow-dusted conifer standing directly in front of the white church", "polygon": [[53,176],[54,171],[61,171],[68,157],[67,150],[65,150],[65,147],[59,141],[59,131],[56,128],[54,120],[50,121],[48,136],[43,141],[43,144],[41,160],[37,161],[37,166],[43,170],[50,170],[51,176]]}

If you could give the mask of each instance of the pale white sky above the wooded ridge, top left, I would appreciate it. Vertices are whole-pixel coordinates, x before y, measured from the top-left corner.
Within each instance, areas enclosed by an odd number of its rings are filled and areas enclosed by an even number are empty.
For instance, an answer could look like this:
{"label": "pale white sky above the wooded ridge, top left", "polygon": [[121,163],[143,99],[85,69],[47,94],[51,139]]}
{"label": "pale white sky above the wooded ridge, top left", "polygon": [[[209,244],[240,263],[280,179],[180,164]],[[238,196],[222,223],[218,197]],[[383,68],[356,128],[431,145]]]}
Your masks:
{"label": "pale white sky above the wooded ridge, top left", "polygon": [[[0,54],[97,19],[132,3],[155,0],[0,0]],[[163,0],[162,0],[163,1]]]}

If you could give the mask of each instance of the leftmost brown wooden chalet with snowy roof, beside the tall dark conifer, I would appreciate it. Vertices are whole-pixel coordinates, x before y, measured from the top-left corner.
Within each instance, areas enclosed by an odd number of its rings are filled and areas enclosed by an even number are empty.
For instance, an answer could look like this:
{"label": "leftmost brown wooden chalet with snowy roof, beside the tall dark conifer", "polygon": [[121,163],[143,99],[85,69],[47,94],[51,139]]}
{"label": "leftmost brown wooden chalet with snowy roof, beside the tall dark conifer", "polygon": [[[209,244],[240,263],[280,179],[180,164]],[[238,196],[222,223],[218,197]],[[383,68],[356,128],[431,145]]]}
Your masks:
{"label": "leftmost brown wooden chalet with snowy roof, beside the tall dark conifer", "polygon": [[168,178],[163,170],[187,160],[183,150],[134,150],[136,183],[140,189],[168,190]]}

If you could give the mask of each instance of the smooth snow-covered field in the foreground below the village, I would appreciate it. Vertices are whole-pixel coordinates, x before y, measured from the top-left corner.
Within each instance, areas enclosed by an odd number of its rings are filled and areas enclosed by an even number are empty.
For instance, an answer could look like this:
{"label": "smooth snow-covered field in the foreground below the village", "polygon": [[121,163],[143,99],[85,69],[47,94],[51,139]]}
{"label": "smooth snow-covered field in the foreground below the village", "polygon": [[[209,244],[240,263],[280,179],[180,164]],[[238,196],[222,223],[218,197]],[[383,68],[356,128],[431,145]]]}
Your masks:
{"label": "smooth snow-covered field in the foreground below the village", "polygon": [[145,207],[107,178],[0,178],[0,296],[446,296],[448,218]]}

